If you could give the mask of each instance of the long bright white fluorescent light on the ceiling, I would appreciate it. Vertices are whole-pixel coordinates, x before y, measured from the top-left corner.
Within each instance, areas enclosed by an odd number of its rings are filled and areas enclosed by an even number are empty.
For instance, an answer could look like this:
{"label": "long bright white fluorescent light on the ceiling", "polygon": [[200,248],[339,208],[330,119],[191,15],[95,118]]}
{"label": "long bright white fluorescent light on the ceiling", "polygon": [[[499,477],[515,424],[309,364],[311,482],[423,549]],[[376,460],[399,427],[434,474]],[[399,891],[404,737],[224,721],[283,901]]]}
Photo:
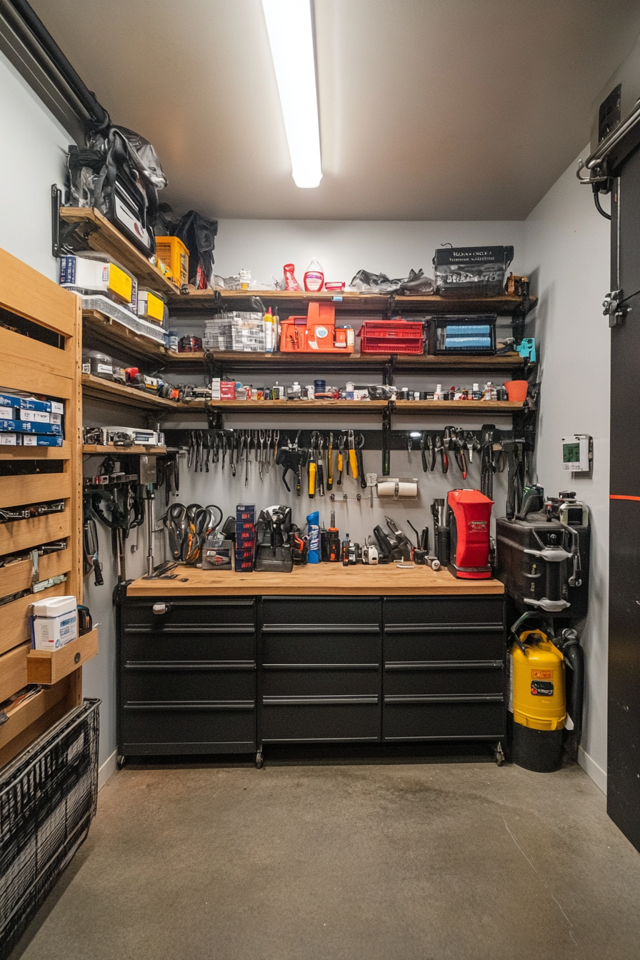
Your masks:
{"label": "long bright white fluorescent light on the ceiling", "polygon": [[311,0],[262,0],[296,186],[322,179]]}

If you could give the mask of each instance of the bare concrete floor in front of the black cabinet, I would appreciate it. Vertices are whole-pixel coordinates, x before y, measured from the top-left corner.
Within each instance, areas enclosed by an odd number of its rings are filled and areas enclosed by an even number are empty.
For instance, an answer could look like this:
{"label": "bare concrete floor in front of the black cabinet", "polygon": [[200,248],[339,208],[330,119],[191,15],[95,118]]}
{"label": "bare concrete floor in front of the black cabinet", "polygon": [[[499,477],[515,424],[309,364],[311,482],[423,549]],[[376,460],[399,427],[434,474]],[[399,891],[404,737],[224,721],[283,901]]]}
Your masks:
{"label": "bare concrete floor in front of the black cabinet", "polygon": [[580,767],[125,767],[12,960],[635,960]]}

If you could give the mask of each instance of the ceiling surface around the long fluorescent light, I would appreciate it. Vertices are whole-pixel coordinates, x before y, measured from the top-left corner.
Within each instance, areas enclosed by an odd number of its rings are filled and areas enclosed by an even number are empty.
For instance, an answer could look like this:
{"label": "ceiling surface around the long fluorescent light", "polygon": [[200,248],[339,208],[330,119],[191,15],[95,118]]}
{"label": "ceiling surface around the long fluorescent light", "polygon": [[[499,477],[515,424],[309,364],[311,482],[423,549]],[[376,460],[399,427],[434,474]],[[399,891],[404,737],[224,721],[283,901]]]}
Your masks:
{"label": "ceiling surface around the long fluorescent light", "polygon": [[519,220],[589,139],[637,0],[316,0],[324,176],[291,178],[260,0],[31,0],[161,199],[227,218]]}

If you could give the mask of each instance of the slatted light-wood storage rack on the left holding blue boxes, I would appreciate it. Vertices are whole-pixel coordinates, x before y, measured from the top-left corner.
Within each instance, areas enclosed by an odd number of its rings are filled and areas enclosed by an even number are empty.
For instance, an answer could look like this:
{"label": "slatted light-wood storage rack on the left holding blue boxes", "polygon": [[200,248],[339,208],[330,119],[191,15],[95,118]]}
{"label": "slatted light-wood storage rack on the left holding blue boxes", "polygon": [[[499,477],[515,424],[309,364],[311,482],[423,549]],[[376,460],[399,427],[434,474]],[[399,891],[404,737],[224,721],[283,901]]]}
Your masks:
{"label": "slatted light-wood storage rack on the left holding blue boxes", "polygon": [[0,767],[81,703],[97,652],[95,631],[32,651],[29,629],[35,600],[83,600],[80,333],[77,298],[0,251]]}

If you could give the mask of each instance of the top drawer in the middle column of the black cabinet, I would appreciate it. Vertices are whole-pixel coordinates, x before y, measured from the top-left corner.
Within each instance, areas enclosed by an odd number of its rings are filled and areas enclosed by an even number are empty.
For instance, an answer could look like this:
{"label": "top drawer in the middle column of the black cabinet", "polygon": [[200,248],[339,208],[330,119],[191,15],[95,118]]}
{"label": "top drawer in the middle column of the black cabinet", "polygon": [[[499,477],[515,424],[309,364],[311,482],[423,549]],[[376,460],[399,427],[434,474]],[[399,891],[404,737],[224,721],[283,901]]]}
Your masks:
{"label": "top drawer in the middle column of the black cabinet", "polygon": [[379,626],[378,597],[263,597],[264,624],[355,624]]}

